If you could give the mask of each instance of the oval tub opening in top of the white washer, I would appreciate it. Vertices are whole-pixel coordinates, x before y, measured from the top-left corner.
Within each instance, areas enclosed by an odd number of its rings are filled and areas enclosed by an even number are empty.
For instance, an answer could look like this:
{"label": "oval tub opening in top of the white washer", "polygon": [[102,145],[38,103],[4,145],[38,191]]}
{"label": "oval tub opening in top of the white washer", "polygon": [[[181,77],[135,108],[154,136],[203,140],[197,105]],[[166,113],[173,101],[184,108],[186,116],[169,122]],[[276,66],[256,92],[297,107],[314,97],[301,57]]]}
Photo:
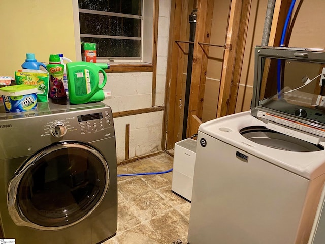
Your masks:
{"label": "oval tub opening in top of the white washer", "polygon": [[240,134],[246,139],[259,145],[264,145],[279,150],[286,151],[320,151],[324,150],[321,145],[315,145],[298,138],[288,136],[264,126],[250,126],[240,130]]}

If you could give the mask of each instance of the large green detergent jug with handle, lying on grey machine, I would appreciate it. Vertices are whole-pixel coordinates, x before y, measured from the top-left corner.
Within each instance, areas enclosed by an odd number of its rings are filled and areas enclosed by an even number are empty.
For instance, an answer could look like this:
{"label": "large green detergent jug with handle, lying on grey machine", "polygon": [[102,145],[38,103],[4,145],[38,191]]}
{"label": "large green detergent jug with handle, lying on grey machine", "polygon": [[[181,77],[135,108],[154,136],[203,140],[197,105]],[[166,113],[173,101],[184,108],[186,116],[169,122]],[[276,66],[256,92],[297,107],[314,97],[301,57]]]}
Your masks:
{"label": "large green detergent jug with handle, lying on grey machine", "polygon": [[[78,61],[67,63],[66,68],[70,103],[99,102],[106,98],[103,90],[107,80],[104,69],[109,69],[109,64]],[[102,83],[99,72],[104,76]]]}

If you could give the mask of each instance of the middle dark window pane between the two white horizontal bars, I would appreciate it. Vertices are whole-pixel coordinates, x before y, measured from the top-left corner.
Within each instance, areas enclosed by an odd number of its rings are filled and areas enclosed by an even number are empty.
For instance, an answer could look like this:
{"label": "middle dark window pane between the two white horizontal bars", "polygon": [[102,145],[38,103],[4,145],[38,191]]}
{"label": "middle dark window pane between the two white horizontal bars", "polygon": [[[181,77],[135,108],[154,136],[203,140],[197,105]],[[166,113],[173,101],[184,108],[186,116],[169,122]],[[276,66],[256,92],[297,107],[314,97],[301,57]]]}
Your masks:
{"label": "middle dark window pane between the two white horizontal bars", "polygon": [[93,35],[140,37],[141,20],[79,13],[80,33]]}

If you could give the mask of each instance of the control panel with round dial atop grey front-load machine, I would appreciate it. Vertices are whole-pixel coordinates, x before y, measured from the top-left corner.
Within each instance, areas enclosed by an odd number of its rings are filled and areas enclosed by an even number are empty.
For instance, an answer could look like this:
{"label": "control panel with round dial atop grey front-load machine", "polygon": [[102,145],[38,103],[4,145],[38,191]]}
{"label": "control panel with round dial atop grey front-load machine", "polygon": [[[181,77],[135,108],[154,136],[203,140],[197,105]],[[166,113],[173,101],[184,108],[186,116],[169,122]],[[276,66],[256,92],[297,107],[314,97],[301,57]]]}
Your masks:
{"label": "control panel with round dial atop grey front-load machine", "polygon": [[91,143],[115,137],[111,108],[103,103],[86,105],[8,114],[0,119],[0,137],[4,138],[0,155],[19,157],[58,141]]}

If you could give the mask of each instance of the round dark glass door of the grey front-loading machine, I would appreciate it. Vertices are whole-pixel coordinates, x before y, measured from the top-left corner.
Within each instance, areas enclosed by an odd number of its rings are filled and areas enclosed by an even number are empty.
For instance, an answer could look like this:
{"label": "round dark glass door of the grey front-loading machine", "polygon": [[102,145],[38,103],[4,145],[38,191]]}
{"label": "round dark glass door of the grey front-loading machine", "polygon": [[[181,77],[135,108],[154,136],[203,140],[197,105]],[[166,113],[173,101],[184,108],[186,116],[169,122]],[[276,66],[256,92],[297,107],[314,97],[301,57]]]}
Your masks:
{"label": "round dark glass door of the grey front-loading machine", "polygon": [[17,225],[66,228],[91,214],[108,185],[108,164],[97,149],[82,142],[56,143],[17,170],[8,188],[9,214]]}

